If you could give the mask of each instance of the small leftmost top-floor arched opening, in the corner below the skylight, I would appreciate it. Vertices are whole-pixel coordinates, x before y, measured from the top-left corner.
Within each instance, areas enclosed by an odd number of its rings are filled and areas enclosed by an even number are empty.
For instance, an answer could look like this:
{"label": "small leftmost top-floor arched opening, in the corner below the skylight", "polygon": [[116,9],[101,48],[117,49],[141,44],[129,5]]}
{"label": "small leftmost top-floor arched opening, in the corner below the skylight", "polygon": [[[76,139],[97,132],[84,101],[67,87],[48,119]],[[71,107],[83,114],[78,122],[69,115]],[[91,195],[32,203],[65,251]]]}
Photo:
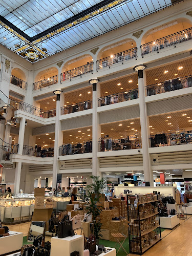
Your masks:
{"label": "small leftmost top-floor arched opening, in the corner below the skylight", "polygon": [[23,70],[19,68],[14,68],[11,71],[11,80],[10,82],[15,86],[18,86],[23,89],[27,89],[26,75]]}

